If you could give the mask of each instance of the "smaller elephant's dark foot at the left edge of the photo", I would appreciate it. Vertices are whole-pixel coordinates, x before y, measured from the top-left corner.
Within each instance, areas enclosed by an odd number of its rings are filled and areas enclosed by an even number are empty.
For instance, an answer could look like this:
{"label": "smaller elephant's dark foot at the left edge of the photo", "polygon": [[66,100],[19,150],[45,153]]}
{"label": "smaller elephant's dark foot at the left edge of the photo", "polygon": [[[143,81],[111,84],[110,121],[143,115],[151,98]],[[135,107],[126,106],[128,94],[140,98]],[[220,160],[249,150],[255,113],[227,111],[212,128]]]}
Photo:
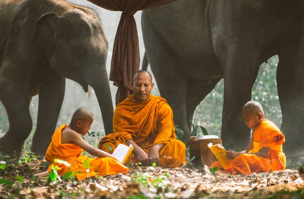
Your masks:
{"label": "smaller elephant's dark foot at the left edge of the photo", "polygon": [[[3,155],[9,155],[11,158],[19,160],[23,142],[16,142],[13,136],[6,134],[0,138],[0,152]],[[24,150],[23,150],[24,151]]]}

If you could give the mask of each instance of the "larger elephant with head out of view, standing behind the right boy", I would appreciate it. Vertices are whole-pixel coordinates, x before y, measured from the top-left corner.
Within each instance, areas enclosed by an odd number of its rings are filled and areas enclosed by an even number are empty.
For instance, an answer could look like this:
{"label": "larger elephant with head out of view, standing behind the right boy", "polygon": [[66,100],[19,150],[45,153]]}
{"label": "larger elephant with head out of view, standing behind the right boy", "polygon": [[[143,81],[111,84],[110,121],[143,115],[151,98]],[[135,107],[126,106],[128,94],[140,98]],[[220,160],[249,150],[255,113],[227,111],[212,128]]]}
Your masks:
{"label": "larger elephant with head out of view, standing behind the right boy", "polygon": [[179,0],[143,11],[146,57],[174,123],[188,135],[189,118],[224,78],[221,138],[227,149],[244,149],[250,130],[242,107],[260,64],[278,55],[283,147],[304,162],[303,9],[300,0]]}

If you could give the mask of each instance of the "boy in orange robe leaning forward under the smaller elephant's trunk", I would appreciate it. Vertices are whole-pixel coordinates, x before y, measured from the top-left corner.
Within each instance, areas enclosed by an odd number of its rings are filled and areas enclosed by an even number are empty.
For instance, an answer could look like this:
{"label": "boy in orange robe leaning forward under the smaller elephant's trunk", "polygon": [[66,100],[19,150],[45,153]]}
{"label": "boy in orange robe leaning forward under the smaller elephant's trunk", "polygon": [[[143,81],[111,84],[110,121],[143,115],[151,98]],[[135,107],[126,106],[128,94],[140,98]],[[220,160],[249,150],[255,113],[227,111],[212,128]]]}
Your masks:
{"label": "boy in orange robe leaning forward under the smaller elephant's trunk", "polygon": [[[112,157],[111,154],[94,148],[81,138],[80,134],[86,135],[91,129],[92,123],[93,113],[89,109],[82,107],[74,112],[71,123],[68,126],[62,125],[55,131],[52,142],[46,152],[46,160],[51,163],[48,169],[49,172],[51,172],[52,165],[57,165],[60,168],[58,170],[59,175],[72,171],[76,173],[76,177],[79,180],[83,180],[95,175],[114,175],[129,170],[115,160],[115,157]],[[99,158],[89,158],[87,155],[82,156],[83,150]],[[70,167],[55,163],[55,159],[68,162]],[[85,160],[90,162],[89,170],[84,166]]]}

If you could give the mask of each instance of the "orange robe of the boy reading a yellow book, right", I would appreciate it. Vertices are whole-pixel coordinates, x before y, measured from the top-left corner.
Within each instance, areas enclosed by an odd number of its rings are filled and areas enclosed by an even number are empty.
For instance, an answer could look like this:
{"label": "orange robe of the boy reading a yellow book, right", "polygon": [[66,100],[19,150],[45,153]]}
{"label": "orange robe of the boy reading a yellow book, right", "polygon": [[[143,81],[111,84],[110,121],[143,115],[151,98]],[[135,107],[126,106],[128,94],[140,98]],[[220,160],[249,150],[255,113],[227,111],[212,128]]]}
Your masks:
{"label": "orange robe of the boy reading a yellow book, right", "polygon": [[[263,120],[253,132],[253,149],[248,153],[256,153],[262,147],[270,147],[266,158],[255,154],[241,154],[231,162],[231,173],[251,174],[253,172],[282,171],[286,168],[286,156],[282,150],[285,137],[280,129],[268,119]],[[221,168],[218,162],[211,167]]]}

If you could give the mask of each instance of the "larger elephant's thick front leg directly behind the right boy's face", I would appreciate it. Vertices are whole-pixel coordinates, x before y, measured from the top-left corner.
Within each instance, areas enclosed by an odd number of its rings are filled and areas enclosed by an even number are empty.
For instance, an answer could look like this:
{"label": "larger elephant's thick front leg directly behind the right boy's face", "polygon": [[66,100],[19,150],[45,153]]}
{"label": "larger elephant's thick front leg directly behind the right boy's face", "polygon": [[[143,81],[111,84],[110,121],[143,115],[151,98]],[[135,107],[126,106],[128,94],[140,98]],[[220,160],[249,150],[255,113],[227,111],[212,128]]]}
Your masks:
{"label": "larger elephant's thick front leg directly behind the right boy's face", "polygon": [[260,44],[249,33],[223,40],[218,32],[214,32],[213,43],[224,71],[221,139],[226,149],[244,150],[251,130],[244,123],[242,109],[251,100],[252,86],[260,65],[260,52],[257,50]]}

